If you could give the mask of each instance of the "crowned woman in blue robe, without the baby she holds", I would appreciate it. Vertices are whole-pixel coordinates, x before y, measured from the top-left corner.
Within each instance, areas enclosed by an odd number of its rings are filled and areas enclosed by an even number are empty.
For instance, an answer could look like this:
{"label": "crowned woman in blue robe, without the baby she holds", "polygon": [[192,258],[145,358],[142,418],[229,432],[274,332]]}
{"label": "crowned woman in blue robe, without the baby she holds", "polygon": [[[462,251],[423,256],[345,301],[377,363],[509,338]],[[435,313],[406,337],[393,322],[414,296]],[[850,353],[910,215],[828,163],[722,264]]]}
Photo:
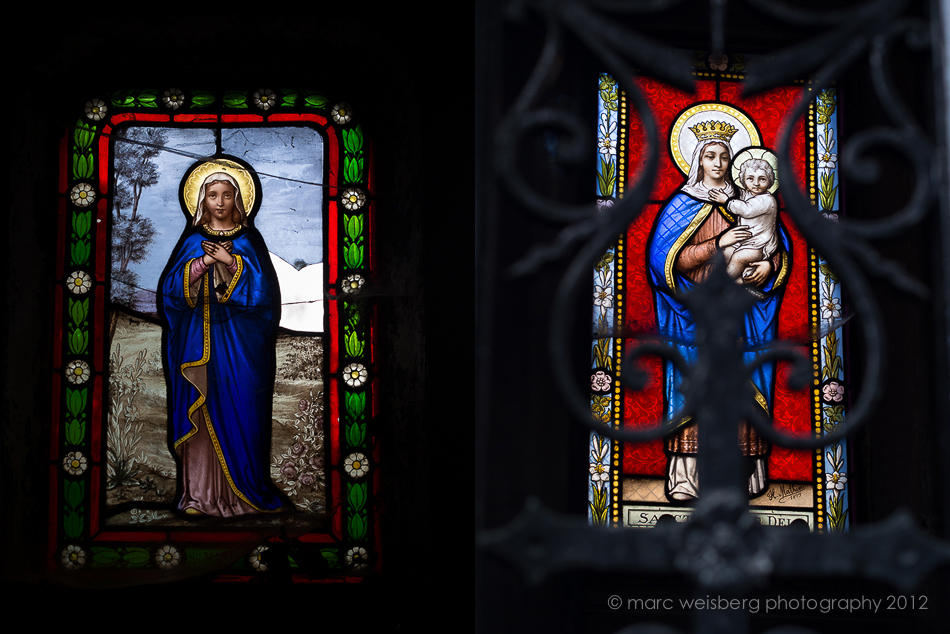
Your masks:
{"label": "crowned woman in blue robe, without the baby she holds", "polygon": [[[758,145],[758,132],[748,117],[734,108],[701,104],[678,118],[671,141],[674,158],[681,169],[687,167],[683,158],[689,155],[684,150],[695,145],[686,182],[657,216],[647,246],[647,268],[658,329],[675,342],[683,358],[692,363],[696,359],[695,322],[678,295],[708,277],[718,250],[751,235],[746,228],[731,227],[733,218],[710,194],[718,191],[730,197],[734,195],[732,183],[726,177],[730,161],[742,148]],[[749,265],[751,271],[747,276],[736,281],[754,290],[759,298],[746,314],[743,332],[736,333],[746,347],[747,362],[756,355],[751,349],[768,344],[776,336],[791,248],[788,233],[781,225],[779,235],[779,250],[768,260]],[[679,425],[666,439],[666,493],[673,500],[685,501],[699,495],[696,421],[681,416],[680,370],[671,361],[665,361],[663,376],[665,416]],[[760,365],[753,373],[752,383],[756,402],[771,415],[775,364]],[[740,423],[738,437],[742,455],[749,461],[749,495],[761,495],[768,482],[769,445],[744,421]]]}

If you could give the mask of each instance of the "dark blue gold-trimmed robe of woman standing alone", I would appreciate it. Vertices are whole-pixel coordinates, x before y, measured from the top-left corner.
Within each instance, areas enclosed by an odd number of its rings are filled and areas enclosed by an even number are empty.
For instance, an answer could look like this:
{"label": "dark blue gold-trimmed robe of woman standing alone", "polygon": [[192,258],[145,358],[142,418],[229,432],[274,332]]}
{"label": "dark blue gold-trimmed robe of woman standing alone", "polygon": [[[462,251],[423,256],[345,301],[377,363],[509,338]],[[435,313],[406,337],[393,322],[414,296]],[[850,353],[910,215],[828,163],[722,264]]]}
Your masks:
{"label": "dark blue gold-trimmed robe of woman standing alone", "polygon": [[[230,281],[223,265],[190,279],[205,240],[233,240],[238,265]],[[269,447],[280,289],[263,239],[253,228],[233,238],[193,233],[172,256],[160,286],[174,446],[207,421],[234,494],[257,511],[278,510],[284,502],[270,479]]]}

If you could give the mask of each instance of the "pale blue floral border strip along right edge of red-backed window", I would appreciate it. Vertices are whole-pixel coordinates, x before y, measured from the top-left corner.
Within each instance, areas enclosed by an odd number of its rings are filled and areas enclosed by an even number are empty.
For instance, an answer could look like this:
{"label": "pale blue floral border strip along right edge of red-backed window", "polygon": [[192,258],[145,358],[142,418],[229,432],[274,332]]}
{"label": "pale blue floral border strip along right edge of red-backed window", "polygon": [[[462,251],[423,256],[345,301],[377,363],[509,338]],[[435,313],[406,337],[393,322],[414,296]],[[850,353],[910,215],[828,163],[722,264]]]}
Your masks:
{"label": "pale blue floral border strip along right edge of red-backed window", "polygon": [[[814,130],[817,153],[812,148],[810,174],[815,179],[817,196],[815,202],[822,214],[833,221],[838,220],[838,154],[835,151],[838,132],[837,95],[829,88],[818,94],[814,103]],[[843,313],[841,288],[838,278],[820,256],[815,254],[817,264],[818,323],[822,329],[841,319]],[[818,366],[815,384],[816,406],[820,407],[820,426],[827,434],[840,425],[847,410],[847,375],[844,363],[844,329],[838,327],[818,342]],[[824,483],[819,479],[822,491],[827,530],[846,530],[850,519],[848,499],[848,456],[845,442],[825,447],[820,456]],[[817,466],[817,465],[816,465]],[[819,475],[820,477],[820,475]],[[823,485],[823,486],[822,486]]]}

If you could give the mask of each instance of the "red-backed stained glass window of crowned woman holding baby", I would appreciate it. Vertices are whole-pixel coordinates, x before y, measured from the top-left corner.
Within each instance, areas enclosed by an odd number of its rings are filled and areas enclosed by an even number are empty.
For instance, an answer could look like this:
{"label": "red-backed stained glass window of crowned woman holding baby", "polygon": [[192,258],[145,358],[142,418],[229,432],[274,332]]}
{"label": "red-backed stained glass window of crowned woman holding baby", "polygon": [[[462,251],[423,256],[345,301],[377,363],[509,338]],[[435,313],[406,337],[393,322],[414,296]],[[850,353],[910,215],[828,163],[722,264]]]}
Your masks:
{"label": "red-backed stained glass window of crowned woman holding baby", "polygon": [[[754,58],[697,52],[694,59],[694,94],[634,79],[656,118],[657,140],[646,138],[617,82],[599,79],[599,204],[611,206],[643,175],[649,144],[660,144],[660,157],[646,207],[594,270],[592,326],[601,336],[592,347],[591,410],[616,427],[642,429],[666,419],[678,429],[646,443],[591,434],[589,520],[598,525],[650,527],[665,515],[686,521],[702,495],[696,424],[677,418],[679,371],[671,362],[642,357],[639,368],[648,377],[642,390],[622,386],[619,374],[621,359],[637,343],[631,333],[659,333],[679,341],[687,360],[695,355],[692,317],[677,293],[705,279],[715,252],[756,297],[742,333],[748,348],[782,339],[808,349],[814,375],[806,391],[788,386],[791,365],[784,361],[763,364],[752,376],[755,399],[775,428],[828,433],[847,408],[841,289],[782,203],[783,187],[799,187],[827,218],[838,218],[835,90],[812,94],[805,82],[793,82],[745,97],[743,74]],[[803,94],[811,103],[807,117],[793,124],[796,182],[786,185],[777,178],[777,138]],[[624,336],[611,336],[621,330]],[[754,353],[746,354],[748,361]],[[761,523],[830,531],[848,526],[844,442],[791,450],[770,445],[742,422],[739,445],[748,459],[749,504]]]}

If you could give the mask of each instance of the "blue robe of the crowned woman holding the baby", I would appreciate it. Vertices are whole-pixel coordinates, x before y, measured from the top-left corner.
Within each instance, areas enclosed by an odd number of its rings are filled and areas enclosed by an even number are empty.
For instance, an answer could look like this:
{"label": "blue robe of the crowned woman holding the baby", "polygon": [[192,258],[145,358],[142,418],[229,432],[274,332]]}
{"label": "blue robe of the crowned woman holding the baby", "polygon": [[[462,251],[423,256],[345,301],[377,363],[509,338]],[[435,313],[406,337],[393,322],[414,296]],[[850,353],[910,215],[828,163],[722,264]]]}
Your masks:
{"label": "blue robe of the crowned woman holding the baby", "polygon": [[[676,340],[676,347],[686,359],[687,363],[696,361],[696,347],[692,345],[695,337],[695,323],[689,310],[675,295],[688,292],[695,283],[676,270],[676,259],[680,251],[687,246],[689,239],[705,223],[710,214],[720,213],[731,222],[721,206],[700,201],[684,192],[678,192],[663,207],[657,216],[653,235],[647,250],[647,266],[649,277],[653,285],[653,296],[656,303],[657,327],[660,334]],[[754,348],[774,341],[778,332],[778,312],[788,280],[790,263],[788,254],[791,252],[791,240],[785,228],[778,225],[780,236],[781,259],[778,270],[766,280],[758,290],[765,293],[762,299],[746,313],[743,332],[736,333],[737,338],[743,337],[747,348]],[[746,363],[751,363],[756,352],[745,352]],[[683,405],[683,395],[679,391],[682,375],[670,361],[664,362],[664,403],[667,419],[679,417],[679,410]],[[765,363],[759,366],[752,374],[755,385],[755,398],[767,414],[772,412],[772,393],[775,385],[775,363]],[[680,421],[685,424],[687,420]]]}

